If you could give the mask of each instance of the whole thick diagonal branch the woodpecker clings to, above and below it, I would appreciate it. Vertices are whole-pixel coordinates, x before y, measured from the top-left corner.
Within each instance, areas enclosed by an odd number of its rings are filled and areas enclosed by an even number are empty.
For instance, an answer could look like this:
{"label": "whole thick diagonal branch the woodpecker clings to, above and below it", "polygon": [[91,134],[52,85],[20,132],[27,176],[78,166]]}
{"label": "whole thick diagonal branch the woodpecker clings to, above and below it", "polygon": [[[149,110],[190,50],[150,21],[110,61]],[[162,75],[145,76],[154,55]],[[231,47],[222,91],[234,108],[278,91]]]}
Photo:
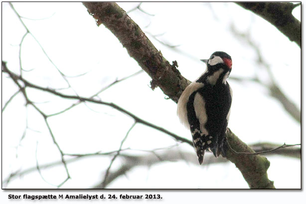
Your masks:
{"label": "whole thick diagonal branch the woodpecker clings to, above and below it", "polygon": [[[141,28],[115,2],[83,2],[97,25],[104,24],[126,47],[128,53],[153,79],[152,88],[159,86],[164,94],[177,102],[180,94],[190,83],[175,66],[162,57]],[[227,131],[228,142],[237,152],[254,151]],[[228,151],[227,159],[240,170],[250,188],[275,188],[268,179],[270,162],[259,155],[239,155]]]}

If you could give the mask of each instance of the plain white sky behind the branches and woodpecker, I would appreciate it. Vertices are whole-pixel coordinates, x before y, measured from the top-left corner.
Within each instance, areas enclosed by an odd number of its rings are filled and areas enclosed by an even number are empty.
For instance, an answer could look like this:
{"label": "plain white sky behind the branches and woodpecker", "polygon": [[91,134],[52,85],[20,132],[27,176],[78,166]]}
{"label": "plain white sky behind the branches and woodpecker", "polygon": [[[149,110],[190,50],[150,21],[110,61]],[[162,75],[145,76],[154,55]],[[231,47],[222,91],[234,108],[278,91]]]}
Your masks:
{"label": "plain white sky behind the branches and woodpecker", "polygon": [[[118,3],[126,11],[138,3]],[[141,68],[131,58],[118,39],[104,25],[97,27],[82,3],[13,3],[31,33],[37,38],[56,66],[66,75],[80,96],[89,97],[101,88]],[[160,34],[158,39],[171,45],[180,45],[177,51],[169,49],[149,34],[155,47],[169,61],[176,60],[178,69],[193,81],[205,70],[199,59],[208,58],[214,51],[225,51],[232,56],[231,76],[267,77],[256,64],[256,53],[230,31],[234,23],[240,32],[250,29],[252,40],[260,47],[264,60],[285,94],[301,108],[301,49],[267,21],[234,3],[143,3],[142,8],[129,16],[146,33]],[[301,13],[294,14],[300,19]],[[19,73],[18,44],[25,33],[19,19],[8,3],[2,3],[2,60],[7,67]],[[301,19],[300,19],[301,20]],[[250,25],[251,24],[251,25]],[[148,26],[149,25],[149,26]],[[146,27],[147,26],[147,27]],[[67,87],[66,82],[48,61],[31,35],[22,44],[23,77],[32,83],[50,88]],[[141,73],[114,85],[100,94],[103,101],[113,102],[140,118],[161,126],[179,136],[191,139],[190,133],[179,124],[176,104],[165,100],[165,95],[149,87],[151,78]],[[301,143],[301,125],[284,111],[282,105],[269,97],[263,86],[251,82],[238,83],[229,78],[234,92],[229,127],[245,143],[272,142],[277,144]],[[2,106],[17,91],[11,79],[2,74]],[[33,89],[29,97],[46,114],[61,111],[76,101],[63,100]],[[74,94],[62,90],[66,94]],[[15,172],[60,160],[43,118],[18,94],[2,114],[2,179]],[[27,130],[28,127],[40,131]],[[133,119],[102,105],[87,103],[48,119],[54,136],[65,153],[86,154],[118,150],[122,139],[133,124]],[[177,145],[173,150],[193,152],[186,144],[178,144],[169,136],[137,124],[130,132],[123,148],[131,154],[147,154],[137,150]],[[17,147],[17,148],[16,148]],[[158,152],[156,152],[158,154]],[[17,157],[16,157],[17,155]],[[194,153],[195,155],[195,153]],[[301,188],[301,161],[280,156],[267,156],[271,165],[269,179],[276,188]],[[69,159],[67,157],[67,159]],[[90,157],[68,164],[72,179],[62,188],[91,188],[100,183],[111,157]],[[121,164],[114,162],[115,171]],[[63,166],[42,170],[43,178],[53,185],[66,178]],[[97,182],[98,181],[98,182]],[[7,188],[54,188],[42,180],[37,171],[10,181]],[[108,188],[248,188],[241,173],[232,163],[195,166],[186,162],[160,163],[152,167],[137,167],[114,181]]]}

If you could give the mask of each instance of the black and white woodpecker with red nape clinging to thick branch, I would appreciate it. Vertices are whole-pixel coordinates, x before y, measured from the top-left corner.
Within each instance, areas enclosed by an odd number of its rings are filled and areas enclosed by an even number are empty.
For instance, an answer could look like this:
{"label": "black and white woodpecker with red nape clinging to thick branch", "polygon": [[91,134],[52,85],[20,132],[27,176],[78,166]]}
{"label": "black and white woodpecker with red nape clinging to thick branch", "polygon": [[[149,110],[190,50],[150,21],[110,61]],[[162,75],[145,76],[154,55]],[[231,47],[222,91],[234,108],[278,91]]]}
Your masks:
{"label": "black and white woodpecker with red nape clinging to thick branch", "polygon": [[190,130],[195,152],[201,165],[204,152],[215,157],[227,150],[225,132],[232,103],[232,89],[226,81],[232,70],[232,58],[225,52],[214,52],[206,71],[182,92],[177,103],[180,122]]}

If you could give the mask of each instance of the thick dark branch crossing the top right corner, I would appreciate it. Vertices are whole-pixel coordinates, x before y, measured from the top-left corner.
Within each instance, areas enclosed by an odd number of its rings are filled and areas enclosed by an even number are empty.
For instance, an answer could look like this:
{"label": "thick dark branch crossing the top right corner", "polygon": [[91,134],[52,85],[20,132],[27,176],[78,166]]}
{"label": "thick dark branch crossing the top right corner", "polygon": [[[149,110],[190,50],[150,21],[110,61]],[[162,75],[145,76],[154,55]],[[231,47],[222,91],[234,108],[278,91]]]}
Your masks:
{"label": "thick dark branch crossing the top right corner", "polygon": [[292,14],[292,10],[297,6],[290,2],[236,2],[245,9],[251,10],[261,16],[291,41],[296,42],[301,48],[302,29],[301,21]]}

